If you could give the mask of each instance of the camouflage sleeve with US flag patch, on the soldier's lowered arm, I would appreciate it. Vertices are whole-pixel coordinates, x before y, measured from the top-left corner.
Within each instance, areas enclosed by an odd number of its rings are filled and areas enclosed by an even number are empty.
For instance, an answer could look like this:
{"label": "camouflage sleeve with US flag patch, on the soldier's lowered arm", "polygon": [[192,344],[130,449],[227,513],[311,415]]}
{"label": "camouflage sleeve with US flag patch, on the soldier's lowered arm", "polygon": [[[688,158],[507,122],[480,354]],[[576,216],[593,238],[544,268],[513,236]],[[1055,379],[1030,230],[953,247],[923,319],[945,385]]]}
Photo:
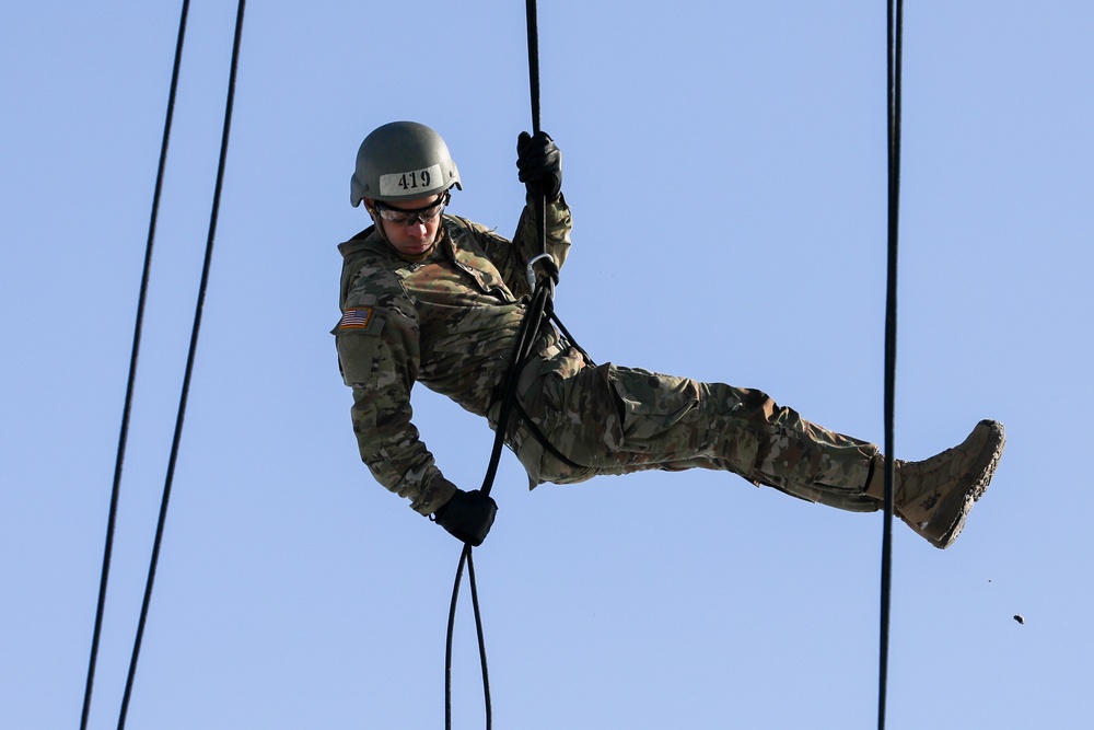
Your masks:
{"label": "camouflage sleeve with US flag patch, on the soldier's lowered arm", "polygon": [[431,514],[454,487],[433,463],[411,422],[418,374],[418,322],[412,306],[351,291],[335,328],[342,379],[353,389],[353,432],[361,459],[384,487]]}

